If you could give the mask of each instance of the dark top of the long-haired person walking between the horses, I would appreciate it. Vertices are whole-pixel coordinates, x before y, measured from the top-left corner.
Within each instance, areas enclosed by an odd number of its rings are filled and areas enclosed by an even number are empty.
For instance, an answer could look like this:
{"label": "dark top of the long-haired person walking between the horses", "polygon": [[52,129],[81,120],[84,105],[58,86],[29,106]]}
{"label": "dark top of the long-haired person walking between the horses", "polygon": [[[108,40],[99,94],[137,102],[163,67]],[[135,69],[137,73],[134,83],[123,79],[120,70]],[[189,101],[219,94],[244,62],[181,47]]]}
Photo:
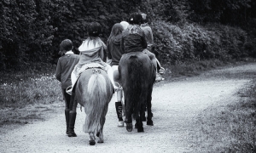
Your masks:
{"label": "dark top of the long-haired person walking between the horses", "polygon": [[112,59],[111,65],[119,65],[119,60],[122,55],[125,53],[121,49],[121,38],[122,34],[118,36],[113,36],[108,39],[107,42],[107,55],[108,59]]}

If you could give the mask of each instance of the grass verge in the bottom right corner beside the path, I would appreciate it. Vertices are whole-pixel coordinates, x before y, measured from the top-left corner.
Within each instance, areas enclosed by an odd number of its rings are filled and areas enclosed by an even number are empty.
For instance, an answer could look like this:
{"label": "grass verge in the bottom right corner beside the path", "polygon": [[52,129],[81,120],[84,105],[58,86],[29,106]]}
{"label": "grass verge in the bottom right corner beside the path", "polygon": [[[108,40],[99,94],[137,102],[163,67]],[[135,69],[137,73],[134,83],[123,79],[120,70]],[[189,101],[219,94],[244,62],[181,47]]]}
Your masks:
{"label": "grass verge in the bottom right corner beside the path", "polygon": [[190,133],[193,152],[256,152],[256,79],[236,103],[203,111]]}

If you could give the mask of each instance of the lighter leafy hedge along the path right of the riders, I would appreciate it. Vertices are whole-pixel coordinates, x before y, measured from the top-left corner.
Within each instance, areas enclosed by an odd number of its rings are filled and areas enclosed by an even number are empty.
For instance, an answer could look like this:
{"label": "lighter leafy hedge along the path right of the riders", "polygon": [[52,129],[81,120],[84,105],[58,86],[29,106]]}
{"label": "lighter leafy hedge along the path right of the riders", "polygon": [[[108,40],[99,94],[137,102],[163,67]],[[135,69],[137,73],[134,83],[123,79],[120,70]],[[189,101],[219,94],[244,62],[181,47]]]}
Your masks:
{"label": "lighter leafy hedge along the path right of the riders", "polygon": [[247,56],[244,46],[247,32],[221,25],[198,26],[185,23],[171,25],[162,20],[152,24],[156,50],[164,63],[178,64],[185,60],[240,59]]}

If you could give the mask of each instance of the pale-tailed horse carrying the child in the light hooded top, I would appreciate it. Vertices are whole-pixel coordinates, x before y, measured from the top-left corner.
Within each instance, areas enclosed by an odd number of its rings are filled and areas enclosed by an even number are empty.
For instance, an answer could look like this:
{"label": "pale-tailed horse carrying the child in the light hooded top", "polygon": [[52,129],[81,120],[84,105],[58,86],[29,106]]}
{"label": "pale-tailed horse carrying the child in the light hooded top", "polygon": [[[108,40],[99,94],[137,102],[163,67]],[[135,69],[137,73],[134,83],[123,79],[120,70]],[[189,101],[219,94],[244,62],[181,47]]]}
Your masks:
{"label": "pale-tailed horse carrying the child in the light hooded top", "polygon": [[74,87],[73,111],[78,103],[84,106],[86,114],[84,133],[89,133],[89,144],[94,145],[95,135],[99,136],[98,143],[103,143],[103,126],[108,112],[108,103],[113,96],[113,85],[107,72],[100,68],[85,70]]}

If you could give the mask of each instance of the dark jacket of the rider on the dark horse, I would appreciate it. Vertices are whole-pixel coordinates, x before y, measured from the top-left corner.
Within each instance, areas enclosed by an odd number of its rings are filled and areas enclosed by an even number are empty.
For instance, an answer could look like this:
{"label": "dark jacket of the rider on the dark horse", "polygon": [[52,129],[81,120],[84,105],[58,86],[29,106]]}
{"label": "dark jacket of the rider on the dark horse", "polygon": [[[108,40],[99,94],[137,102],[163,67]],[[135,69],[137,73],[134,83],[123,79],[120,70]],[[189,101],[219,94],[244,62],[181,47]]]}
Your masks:
{"label": "dark jacket of the rider on the dark horse", "polygon": [[142,52],[147,48],[148,44],[143,30],[137,33],[129,33],[125,30],[122,34],[121,48],[125,53],[129,52]]}

